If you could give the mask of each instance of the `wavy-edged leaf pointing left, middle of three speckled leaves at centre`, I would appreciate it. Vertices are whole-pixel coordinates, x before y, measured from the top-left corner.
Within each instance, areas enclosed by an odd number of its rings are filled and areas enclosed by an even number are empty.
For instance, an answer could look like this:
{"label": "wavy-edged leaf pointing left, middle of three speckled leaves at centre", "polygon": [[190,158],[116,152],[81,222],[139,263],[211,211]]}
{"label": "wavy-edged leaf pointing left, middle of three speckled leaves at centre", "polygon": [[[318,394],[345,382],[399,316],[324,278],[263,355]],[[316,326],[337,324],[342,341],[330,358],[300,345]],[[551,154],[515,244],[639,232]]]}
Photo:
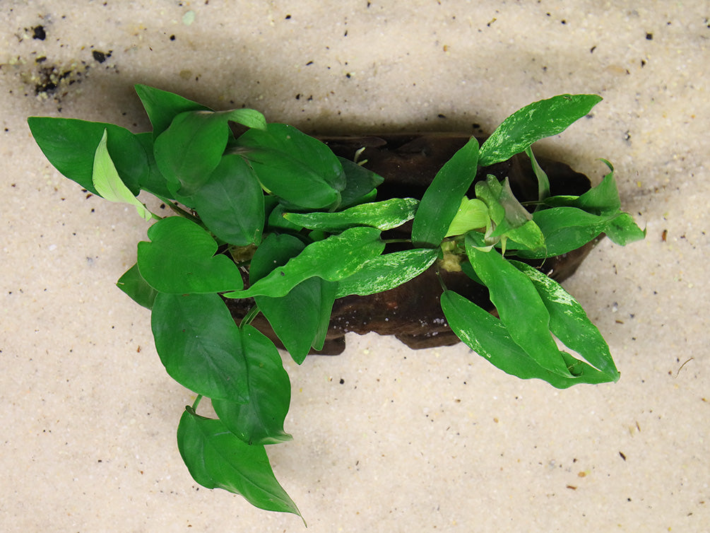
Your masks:
{"label": "wavy-edged leaf pointing left, middle of three speckled leaves at centre", "polygon": [[284,266],[274,269],[249,289],[227,293],[226,298],[285,296],[301,281],[319,276],[339,281],[354,274],[369,259],[382,253],[385,243],[373,227],[352,227],[340,235],[313,242]]}

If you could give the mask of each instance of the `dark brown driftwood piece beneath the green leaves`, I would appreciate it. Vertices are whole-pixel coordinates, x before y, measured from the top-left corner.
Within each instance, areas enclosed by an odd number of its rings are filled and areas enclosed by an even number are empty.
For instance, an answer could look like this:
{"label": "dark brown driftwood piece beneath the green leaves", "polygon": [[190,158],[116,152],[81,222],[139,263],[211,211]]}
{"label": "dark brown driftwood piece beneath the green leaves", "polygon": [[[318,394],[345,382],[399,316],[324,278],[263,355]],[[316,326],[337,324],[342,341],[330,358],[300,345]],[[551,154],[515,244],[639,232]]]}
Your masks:
{"label": "dark brown driftwood piece beneath the green leaves", "polygon": [[[387,198],[422,198],[439,168],[464,146],[469,136],[461,134],[386,134],[377,136],[346,136],[322,139],[338,156],[353,159],[356,151],[359,160],[366,160],[364,166],[385,178],[378,187],[378,200]],[[482,142],[483,139],[479,139]],[[552,195],[580,195],[590,188],[589,179],[569,166],[557,161],[538,158],[540,166],[550,178]],[[497,163],[479,169],[476,181],[493,174],[497,178],[508,176],[510,187],[520,201],[537,199],[537,180],[527,156],[515,156],[504,163]],[[473,185],[468,194],[474,197]],[[411,222],[386,232],[385,238],[407,238],[410,236]],[[530,262],[557,281],[574,274],[577,266],[596,244],[596,240],[584,247],[546,259],[545,262]],[[389,246],[389,245],[388,245]],[[386,250],[394,251],[395,247]],[[447,288],[466,296],[482,308],[495,312],[484,286],[471,281],[463,272],[441,270]],[[435,274],[434,266],[408,283],[391,291],[371,296],[347,296],[339,298],[333,306],[327,337],[322,355],[337,355],[345,349],[345,333],[360,335],[375,331],[380,335],[395,335],[410,348],[432,348],[453,345],[459,338],[449,328],[441,307],[439,296],[442,289]],[[226,300],[236,321],[240,321],[253,305],[247,300]],[[297,312],[297,311],[295,311]],[[278,346],[271,325],[263,315],[258,315],[251,323],[268,335]]]}

